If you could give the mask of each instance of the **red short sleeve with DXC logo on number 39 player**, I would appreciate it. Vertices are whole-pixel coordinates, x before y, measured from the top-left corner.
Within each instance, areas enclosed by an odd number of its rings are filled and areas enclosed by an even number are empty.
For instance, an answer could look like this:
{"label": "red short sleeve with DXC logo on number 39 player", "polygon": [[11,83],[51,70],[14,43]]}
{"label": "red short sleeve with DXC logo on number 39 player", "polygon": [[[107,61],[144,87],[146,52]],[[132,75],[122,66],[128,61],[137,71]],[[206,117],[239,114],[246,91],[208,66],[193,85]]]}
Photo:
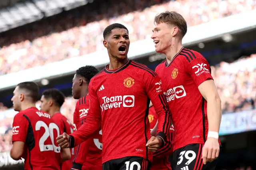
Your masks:
{"label": "red short sleeve with DXC logo on number 39 player", "polygon": [[185,70],[188,73],[197,86],[208,79],[213,79],[211,75],[210,65],[206,58],[200,53],[193,51],[195,58],[188,62],[185,61]]}

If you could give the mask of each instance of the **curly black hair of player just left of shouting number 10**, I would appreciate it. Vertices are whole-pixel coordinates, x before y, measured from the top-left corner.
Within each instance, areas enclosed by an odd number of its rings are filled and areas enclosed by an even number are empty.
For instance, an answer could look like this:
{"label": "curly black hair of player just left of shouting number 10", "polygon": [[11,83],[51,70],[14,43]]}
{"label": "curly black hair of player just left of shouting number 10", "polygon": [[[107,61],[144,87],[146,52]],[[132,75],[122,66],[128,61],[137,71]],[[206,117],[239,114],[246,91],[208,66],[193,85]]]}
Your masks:
{"label": "curly black hair of player just left of shouting number 10", "polygon": [[92,65],[86,65],[76,70],[76,75],[84,77],[89,84],[91,78],[98,73],[98,69]]}

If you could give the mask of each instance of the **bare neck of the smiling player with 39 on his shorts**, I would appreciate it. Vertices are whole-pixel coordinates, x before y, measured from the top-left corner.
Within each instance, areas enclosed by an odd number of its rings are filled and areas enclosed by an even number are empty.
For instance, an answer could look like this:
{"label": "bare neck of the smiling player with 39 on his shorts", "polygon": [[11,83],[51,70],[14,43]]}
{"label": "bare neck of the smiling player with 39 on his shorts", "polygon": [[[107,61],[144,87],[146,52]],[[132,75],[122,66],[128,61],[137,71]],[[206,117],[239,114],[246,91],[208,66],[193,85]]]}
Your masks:
{"label": "bare neck of the smiling player with 39 on his shorts", "polygon": [[181,39],[174,39],[173,42],[171,43],[171,46],[168,48],[168,51],[164,51],[164,54],[166,55],[166,60],[168,63],[172,61],[172,59],[180,51],[181,48],[182,48]]}

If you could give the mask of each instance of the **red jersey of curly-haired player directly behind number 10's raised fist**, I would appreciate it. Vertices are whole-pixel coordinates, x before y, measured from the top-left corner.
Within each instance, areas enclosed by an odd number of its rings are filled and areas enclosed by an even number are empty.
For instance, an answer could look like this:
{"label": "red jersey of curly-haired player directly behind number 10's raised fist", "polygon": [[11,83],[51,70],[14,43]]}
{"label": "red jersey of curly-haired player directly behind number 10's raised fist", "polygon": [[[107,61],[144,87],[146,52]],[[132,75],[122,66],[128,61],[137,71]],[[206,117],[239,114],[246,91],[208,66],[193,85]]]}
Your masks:
{"label": "red jersey of curly-haired player directly behind number 10's raised fist", "polygon": [[[89,100],[90,96],[86,95],[76,102],[73,120],[77,129],[79,129],[86,120],[89,111]],[[97,130],[97,132],[95,132],[90,139],[82,142],[76,149],[77,150],[73,162],[80,164],[80,166],[82,166],[82,170],[102,170],[101,130]]]}

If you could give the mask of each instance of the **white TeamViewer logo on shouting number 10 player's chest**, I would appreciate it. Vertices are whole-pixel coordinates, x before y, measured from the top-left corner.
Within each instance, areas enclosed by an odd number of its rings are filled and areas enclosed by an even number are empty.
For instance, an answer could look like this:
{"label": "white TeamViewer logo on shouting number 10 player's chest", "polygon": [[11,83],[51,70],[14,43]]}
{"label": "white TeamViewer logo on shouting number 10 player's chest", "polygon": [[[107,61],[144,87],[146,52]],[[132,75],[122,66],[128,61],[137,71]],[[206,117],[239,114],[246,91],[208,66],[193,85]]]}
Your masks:
{"label": "white TeamViewer logo on shouting number 10 player's chest", "polygon": [[124,95],[124,96],[112,96],[112,97],[102,97],[103,103],[100,105],[102,111],[120,108],[120,107],[134,107],[134,95]]}

